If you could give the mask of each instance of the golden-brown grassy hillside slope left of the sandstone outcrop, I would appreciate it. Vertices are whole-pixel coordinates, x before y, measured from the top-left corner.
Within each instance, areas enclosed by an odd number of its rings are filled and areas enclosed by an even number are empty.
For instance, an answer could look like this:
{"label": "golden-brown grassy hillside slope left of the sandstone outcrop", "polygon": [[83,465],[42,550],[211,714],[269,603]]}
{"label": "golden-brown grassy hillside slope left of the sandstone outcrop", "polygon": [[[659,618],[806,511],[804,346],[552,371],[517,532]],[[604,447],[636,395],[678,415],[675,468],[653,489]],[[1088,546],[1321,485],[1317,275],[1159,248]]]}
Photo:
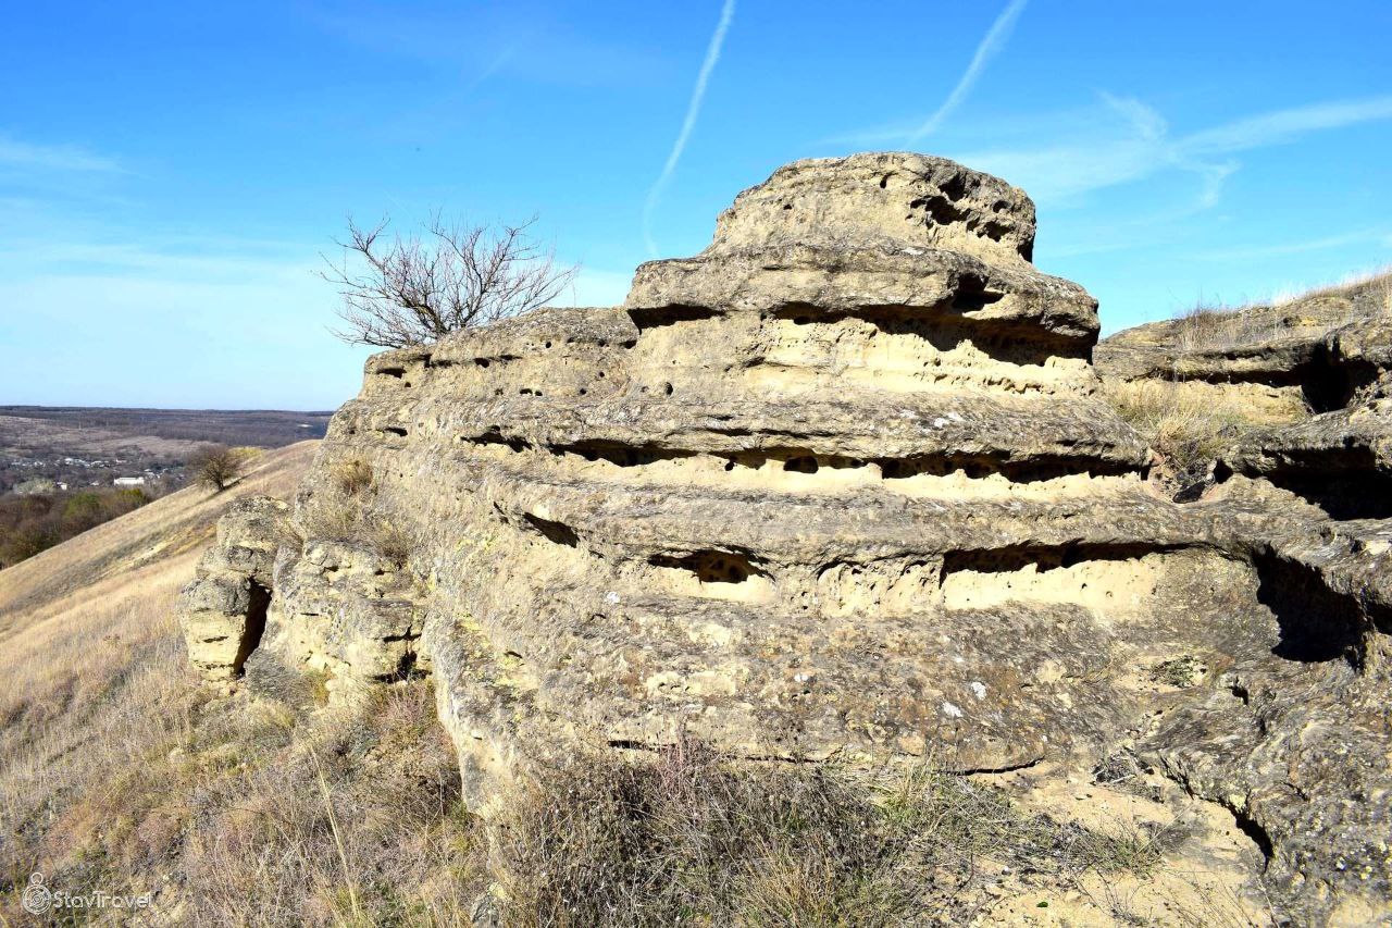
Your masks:
{"label": "golden-brown grassy hillside slope left of the sandstone outcrop", "polygon": [[[74,896],[150,893],[142,917],[93,910],[92,924],[367,924],[365,911],[397,913],[395,893],[423,924],[468,921],[479,889],[448,878],[458,773],[427,690],[394,691],[370,723],[303,725],[188,667],[174,608],[216,520],[239,499],[291,495],[316,444],[0,571],[0,925],[36,924],[21,908],[32,874]],[[335,835],[331,821],[351,825]],[[369,910],[359,879],[390,900]]]}

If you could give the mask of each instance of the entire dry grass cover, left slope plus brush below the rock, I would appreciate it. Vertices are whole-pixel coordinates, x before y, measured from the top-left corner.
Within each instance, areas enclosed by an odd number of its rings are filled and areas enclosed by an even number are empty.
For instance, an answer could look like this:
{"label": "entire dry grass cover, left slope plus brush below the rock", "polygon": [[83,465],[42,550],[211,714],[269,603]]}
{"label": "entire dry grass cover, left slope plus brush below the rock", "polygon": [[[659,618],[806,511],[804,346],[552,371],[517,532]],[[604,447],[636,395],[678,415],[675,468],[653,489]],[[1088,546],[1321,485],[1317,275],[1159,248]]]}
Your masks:
{"label": "entire dry grass cover, left slope plus brush below the rock", "polygon": [[[892,925],[970,920],[1006,868],[1058,889],[1158,865],[1148,832],[1030,814],[933,765],[735,766],[690,743],[574,758],[480,822],[429,680],[303,709],[196,680],[174,606],[205,504],[159,500],[103,527],[110,548],[38,556],[22,584],[0,571],[10,602],[38,602],[0,631],[0,924],[25,924],[32,871],[74,893],[155,892],[171,924],[464,925],[496,881],[508,925]],[[118,525],[159,517],[167,539],[157,521]],[[107,573],[42,601],[22,589],[84,566]]]}

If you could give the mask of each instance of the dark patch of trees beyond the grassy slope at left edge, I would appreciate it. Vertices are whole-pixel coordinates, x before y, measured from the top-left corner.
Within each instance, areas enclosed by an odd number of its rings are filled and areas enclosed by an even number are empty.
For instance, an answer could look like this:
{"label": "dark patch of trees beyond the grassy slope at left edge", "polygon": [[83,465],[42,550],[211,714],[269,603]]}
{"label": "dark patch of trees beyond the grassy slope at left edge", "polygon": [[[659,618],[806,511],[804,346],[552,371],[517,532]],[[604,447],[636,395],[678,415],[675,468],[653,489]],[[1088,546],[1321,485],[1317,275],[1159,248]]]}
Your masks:
{"label": "dark patch of trees beyond the grassy slope at left edge", "polygon": [[17,564],[150,502],[143,489],[0,496],[0,567]]}

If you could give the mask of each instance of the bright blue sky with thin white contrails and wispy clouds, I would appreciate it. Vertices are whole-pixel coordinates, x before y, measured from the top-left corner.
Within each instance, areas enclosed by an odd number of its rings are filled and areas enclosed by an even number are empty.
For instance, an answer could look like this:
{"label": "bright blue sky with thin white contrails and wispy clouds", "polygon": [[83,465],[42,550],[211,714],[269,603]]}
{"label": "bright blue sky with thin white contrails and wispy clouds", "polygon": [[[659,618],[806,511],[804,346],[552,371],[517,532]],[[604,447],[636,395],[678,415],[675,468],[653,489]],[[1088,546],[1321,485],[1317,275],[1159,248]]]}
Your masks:
{"label": "bright blue sky with thin white contrails and wispy clouds", "polygon": [[0,403],[333,408],[348,215],[540,213],[612,304],[869,149],[1023,187],[1108,332],[1339,280],[1392,262],[1389,35],[1385,0],[13,4]]}

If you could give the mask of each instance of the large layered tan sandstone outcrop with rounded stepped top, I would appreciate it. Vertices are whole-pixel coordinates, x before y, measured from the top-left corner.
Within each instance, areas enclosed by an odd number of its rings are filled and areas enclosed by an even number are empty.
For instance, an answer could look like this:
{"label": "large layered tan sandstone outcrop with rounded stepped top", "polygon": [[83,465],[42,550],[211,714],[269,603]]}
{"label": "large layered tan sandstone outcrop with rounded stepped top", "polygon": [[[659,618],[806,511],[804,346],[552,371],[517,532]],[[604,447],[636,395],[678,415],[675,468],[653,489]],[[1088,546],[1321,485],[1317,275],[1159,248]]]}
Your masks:
{"label": "large layered tan sandstone outcrop with rounded stepped top", "polygon": [[[480,808],[682,736],[963,773],[1125,754],[1232,812],[1282,913],[1375,910],[1385,524],[1256,464],[1153,492],[1096,301],[1033,235],[1023,192],[942,159],[798,162],[624,307],[376,355],[283,517],[248,680],[432,673]],[[185,620],[214,676],[245,655],[206,628],[249,614],[224,564],[267,549],[241,518]]]}

